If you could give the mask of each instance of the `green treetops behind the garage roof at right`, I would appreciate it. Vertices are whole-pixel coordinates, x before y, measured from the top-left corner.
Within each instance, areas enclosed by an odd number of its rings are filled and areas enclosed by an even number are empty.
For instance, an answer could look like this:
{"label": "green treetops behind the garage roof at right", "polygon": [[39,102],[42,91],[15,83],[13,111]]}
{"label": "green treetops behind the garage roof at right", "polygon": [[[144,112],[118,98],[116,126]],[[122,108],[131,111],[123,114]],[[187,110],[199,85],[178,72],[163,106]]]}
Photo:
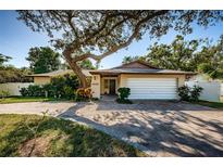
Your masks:
{"label": "green treetops behind the garage roof at right", "polygon": [[160,68],[199,72],[222,79],[223,35],[216,43],[208,39],[186,41],[183,36],[176,36],[171,44],[150,46],[145,59]]}

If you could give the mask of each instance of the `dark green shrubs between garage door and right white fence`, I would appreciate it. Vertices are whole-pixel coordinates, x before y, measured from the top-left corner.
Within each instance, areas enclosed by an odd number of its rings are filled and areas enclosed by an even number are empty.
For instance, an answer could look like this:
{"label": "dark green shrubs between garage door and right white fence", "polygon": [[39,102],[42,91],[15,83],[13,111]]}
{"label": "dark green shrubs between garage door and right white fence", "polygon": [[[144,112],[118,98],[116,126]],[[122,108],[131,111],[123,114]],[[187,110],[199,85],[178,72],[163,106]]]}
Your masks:
{"label": "dark green shrubs between garage door and right white fence", "polygon": [[189,88],[188,86],[183,86],[178,88],[178,95],[183,101],[196,102],[199,100],[202,90],[203,88],[199,86],[194,86],[193,88]]}

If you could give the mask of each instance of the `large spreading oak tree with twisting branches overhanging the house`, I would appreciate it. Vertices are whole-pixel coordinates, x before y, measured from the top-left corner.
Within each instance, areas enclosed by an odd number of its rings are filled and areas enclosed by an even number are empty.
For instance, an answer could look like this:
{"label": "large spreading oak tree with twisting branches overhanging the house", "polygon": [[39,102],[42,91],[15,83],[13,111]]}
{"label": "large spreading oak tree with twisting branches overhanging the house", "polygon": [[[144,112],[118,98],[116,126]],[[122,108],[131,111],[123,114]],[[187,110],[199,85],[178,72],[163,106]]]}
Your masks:
{"label": "large spreading oak tree with twisting branches overhanging the house", "polygon": [[[100,61],[139,40],[146,33],[160,37],[174,28],[191,33],[191,23],[209,26],[222,21],[221,11],[17,11],[18,20],[34,31],[47,31],[58,49],[63,50],[71,68],[87,87],[78,62]],[[53,36],[55,31],[61,37]]]}

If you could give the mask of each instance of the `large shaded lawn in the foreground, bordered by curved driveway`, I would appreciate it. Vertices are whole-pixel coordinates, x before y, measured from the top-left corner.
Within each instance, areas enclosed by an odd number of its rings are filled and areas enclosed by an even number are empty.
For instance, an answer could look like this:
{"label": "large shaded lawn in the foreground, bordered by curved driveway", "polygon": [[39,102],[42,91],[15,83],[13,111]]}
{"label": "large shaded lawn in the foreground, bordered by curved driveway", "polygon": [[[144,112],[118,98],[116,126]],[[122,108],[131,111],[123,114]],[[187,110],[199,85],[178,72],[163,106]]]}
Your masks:
{"label": "large shaded lawn in the foreground, bordered by curved driveway", "polygon": [[[34,142],[30,128],[38,124]],[[146,155],[123,141],[70,120],[53,117],[42,120],[42,116],[37,115],[0,114],[0,156]]]}

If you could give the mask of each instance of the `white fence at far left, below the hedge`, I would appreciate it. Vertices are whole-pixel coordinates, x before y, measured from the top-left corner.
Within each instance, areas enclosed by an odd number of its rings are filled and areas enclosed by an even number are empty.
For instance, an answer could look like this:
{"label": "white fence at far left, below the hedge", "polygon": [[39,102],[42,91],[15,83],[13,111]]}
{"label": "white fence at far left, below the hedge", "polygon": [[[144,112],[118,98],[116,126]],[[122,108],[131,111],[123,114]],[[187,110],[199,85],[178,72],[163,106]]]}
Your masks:
{"label": "white fence at far left, below the hedge", "polygon": [[29,85],[34,85],[33,82],[5,82],[0,84],[0,91],[9,91],[10,95],[21,95],[20,89],[27,88]]}

